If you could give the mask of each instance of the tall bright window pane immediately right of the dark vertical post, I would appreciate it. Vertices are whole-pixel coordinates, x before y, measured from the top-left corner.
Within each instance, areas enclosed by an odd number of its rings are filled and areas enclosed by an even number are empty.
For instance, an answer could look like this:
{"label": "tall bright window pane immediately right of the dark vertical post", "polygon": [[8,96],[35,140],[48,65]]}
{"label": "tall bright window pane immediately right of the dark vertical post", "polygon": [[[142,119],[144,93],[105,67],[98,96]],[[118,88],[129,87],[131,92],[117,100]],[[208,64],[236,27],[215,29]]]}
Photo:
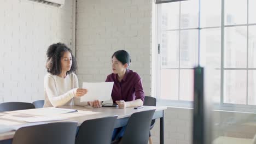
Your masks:
{"label": "tall bright window pane immediately right of the dark vertical post", "polygon": [[206,68],[205,93],[214,103],[220,103],[220,34],[220,28],[201,30],[200,65]]}

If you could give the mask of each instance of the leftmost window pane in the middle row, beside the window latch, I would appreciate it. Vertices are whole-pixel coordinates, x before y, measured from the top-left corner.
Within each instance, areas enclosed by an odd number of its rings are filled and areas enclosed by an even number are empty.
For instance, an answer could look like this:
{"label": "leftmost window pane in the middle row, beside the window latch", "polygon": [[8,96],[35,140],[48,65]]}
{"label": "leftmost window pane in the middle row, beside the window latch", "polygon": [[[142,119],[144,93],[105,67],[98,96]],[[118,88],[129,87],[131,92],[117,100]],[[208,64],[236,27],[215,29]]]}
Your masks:
{"label": "leftmost window pane in the middle row, beside the window latch", "polygon": [[179,31],[162,32],[161,65],[162,68],[178,68]]}

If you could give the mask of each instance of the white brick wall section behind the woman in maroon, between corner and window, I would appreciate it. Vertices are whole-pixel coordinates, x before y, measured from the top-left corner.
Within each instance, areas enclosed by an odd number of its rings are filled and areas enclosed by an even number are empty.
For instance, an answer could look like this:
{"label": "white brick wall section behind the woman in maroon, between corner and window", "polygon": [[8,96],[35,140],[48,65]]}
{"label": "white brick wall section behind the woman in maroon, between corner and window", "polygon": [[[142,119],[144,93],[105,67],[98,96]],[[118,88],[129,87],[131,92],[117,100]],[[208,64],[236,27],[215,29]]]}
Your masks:
{"label": "white brick wall section behind the woman in maroon, between corner and window", "polygon": [[105,81],[111,73],[111,56],[124,49],[131,55],[130,69],[141,75],[144,93],[151,88],[152,1],[78,0],[76,56],[78,79]]}

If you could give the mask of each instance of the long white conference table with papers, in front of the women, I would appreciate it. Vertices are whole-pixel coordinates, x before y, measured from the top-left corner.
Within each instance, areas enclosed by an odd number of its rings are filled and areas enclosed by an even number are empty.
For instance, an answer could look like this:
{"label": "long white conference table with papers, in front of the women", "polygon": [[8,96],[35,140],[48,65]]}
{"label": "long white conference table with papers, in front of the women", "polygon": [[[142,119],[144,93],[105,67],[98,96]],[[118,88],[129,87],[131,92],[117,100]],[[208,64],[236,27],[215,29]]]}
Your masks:
{"label": "long white conference table with papers, in front of the women", "polygon": [[[93,108],[91,106],[61,106],[60,108],[78,110],[78,112],[54,115],[57,117],[67,119],[62,121],[78,122],[78,127],[88,119],[118,115],[118,119],[115,122],[114,128],[125,126],[129,120],[129,117],[132,115],[132,113],[156,109],[153,119],[160,118],[160,143],[164,143],[164,110],[167,109],[167,107],[165,106],[144,106],[143,109],[137,109],[137,110],[133,109],[133,107],[128,107],[126,109],[118,109],[115,107]],[[10,127],[16,127],[16,126],[19,127],[19,125],[30,124],[24,121],[19,121],[18,119],[20,117],[51,116],[51,115],[48,115],[48,113],[43,113],[44,109],[45,108],[0,112],[0,124],[9,125]],[[54,123],[54,122],[60,122],[60,121],[50,121],[46,123]],[[0,143],[3,142],[4,140],[13,139],[14,133],[15,131],[0,133]]]}

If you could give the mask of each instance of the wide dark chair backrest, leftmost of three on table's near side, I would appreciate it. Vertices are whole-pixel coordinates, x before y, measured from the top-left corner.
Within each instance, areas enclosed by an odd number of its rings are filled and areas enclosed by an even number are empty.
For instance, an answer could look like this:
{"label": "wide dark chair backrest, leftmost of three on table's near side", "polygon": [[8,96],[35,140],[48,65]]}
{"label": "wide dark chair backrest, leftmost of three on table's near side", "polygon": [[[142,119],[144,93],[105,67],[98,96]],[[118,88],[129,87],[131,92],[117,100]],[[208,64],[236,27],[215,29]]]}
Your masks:
{"label": "wide dark chair backrest, leftmost of three on table's near side", "polygon": [[13,144],[72,144],[75,142],[76,122],[33,125],[18,129]]}

